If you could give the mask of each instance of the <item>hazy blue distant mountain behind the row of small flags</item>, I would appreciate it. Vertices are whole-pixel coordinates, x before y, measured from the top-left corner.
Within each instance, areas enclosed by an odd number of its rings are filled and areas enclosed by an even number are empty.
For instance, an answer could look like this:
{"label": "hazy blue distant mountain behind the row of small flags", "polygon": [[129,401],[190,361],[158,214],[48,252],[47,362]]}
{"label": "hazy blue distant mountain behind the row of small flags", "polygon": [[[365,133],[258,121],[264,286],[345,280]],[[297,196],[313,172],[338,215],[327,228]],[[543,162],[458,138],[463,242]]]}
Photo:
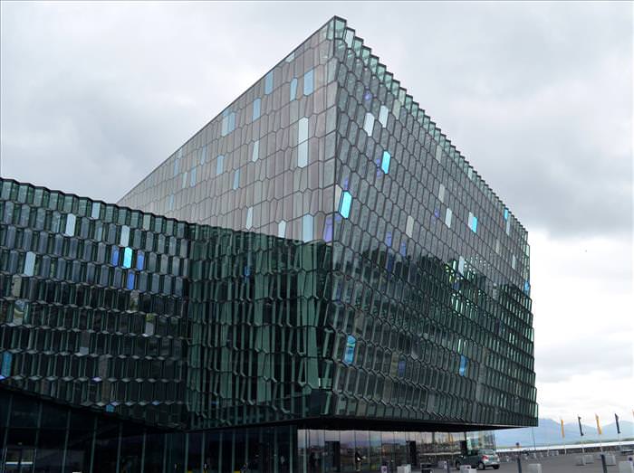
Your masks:
{"label": "hazy blue distant mountain behind the row of small flags", "polygon": [[[621,439],[634,437],[634,422],[619,421]],[[565,439],[562,439],[561,424],[552,419],[539,419],[538,427],[524,429],[495,430],[495,444],[499,448],[514,447],[515,442],[519,442],[522,447],[533,446],[533,434],[535,445],[553,445],[562,443],[575,443],[581,440],[578,423],[564,423],[563,430]],[[609,441],[617,440],[617,426],[612,422],[601,425],[602,435],[597,434],[597,428],[590,425],[583,425],[584,441]]]}

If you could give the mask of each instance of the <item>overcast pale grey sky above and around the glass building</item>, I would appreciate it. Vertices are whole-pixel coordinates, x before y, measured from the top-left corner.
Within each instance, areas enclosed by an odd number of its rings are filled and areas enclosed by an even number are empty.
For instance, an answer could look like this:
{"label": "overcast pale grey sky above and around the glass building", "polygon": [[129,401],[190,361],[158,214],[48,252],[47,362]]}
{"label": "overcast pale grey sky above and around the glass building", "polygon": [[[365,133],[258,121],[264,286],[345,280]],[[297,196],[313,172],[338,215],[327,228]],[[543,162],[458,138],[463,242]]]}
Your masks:
{"label": "overcast pale grey sky above and around the glass building", "polygon": [[529,232],[540,415],[632,420],[632,4],[0,8],[0,172],[108,202],[343,16]]}

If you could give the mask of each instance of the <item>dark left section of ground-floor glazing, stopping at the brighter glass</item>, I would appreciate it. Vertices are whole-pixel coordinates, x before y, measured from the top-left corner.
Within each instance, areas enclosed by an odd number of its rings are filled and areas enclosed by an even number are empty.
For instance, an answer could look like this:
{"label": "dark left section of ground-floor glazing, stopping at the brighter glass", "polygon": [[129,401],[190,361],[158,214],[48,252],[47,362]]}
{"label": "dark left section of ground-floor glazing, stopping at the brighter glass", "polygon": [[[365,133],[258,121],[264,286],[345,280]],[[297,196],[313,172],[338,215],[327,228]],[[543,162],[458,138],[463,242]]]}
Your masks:
{"label": "dark left section of ground-floor glazing, stopping at the brighter glass", "polygon": [[1,388],[0,406],[5,473],[296,471],[294,426],[159,430]]}

